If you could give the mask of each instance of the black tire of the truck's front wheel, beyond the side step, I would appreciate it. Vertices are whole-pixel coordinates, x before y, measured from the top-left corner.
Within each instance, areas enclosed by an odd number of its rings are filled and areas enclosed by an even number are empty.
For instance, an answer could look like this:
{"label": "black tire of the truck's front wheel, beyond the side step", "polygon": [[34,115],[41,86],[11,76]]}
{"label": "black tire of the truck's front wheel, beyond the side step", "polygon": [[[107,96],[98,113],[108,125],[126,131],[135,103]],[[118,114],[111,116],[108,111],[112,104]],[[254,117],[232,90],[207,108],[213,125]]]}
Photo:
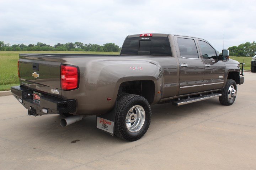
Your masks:
{"label": "black tire of the truck's front wheel, beyond the side step", "polygon": [[[235,93],[233,93],[232,90],[230,89],[235,89],[235,91],[233,91]],[[233,104],[235,102],[236,92],[237,92],[237,86],[236,86],[235,80],[228,79],[225,87],[220,92],[222,94],[222,96],[219,97],[219,101],[221,104],[226,106],[230,106],[231,104]],[[232,93],[234,94],[233,97],[231,97]]]}

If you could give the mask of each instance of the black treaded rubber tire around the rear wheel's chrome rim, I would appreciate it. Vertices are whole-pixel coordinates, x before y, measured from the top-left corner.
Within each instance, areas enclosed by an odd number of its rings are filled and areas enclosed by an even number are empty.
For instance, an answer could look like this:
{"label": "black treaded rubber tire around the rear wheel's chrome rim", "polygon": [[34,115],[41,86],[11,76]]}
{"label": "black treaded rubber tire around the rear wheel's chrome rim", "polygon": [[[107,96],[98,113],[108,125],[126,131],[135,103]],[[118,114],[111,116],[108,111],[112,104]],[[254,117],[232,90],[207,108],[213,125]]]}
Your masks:
{"label": "black treaded rubber tire around the rear wheel's chrome rim", "polygon": [[[140,126],[138,131],[131,132],[128,130],[126,121],[128,111],[133,106],[141,106],[144,109],[144,124]],[[149,102],[139,95],[124,95],[117,101],[116,121],[115,121],[115,135],[127,141],[136,141],[140,139],[148,130],[151,121],[151,107]],[[134,120],[134,123],[136,119]]]}

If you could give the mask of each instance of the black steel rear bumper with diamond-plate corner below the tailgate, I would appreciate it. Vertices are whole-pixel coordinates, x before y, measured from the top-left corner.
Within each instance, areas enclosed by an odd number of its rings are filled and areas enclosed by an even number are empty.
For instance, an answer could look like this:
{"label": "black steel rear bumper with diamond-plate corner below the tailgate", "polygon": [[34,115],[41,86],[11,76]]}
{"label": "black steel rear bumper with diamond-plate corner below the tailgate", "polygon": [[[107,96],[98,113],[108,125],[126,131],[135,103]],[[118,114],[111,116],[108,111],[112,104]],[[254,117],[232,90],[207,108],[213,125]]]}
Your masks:
{"label": "black steel rear bumper with diamond-plate corner below the tailgate", "polygon": [[[16,99],[28,109],[29,115],[43,115],[43,114],[62,114],[75,113],[76,100],[62,100],[57,97],[42,94],[40,103],[33,101],[33,90],[27,89],[23,86],[11,87],[12,94]],[[30,95],[28,95],[30,94]],[[44,112],[43,112],[44,109]],[[47,109],[47,113],[45,113]]]}

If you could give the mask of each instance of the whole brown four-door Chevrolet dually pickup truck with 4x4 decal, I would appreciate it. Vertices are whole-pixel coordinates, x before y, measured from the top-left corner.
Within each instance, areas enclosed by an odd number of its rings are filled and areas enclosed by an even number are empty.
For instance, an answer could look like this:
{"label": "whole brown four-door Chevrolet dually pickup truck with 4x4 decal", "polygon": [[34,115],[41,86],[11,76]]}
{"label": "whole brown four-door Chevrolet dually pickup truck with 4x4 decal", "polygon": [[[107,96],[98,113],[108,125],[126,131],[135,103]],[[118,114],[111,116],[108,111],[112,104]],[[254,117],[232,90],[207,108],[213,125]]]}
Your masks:
{"label": "whole brown four-door Chevrolet dually pickup truck with 4x4 decal", "polygon": [[62,126],[96,115],[97,128],[128,141],[148,130],[151,104],[231,105],[244,83],[228,50],[174,34],[129,35],[120,55],[20,54],[18,75],[11,91],[28,115],[64,115]]}

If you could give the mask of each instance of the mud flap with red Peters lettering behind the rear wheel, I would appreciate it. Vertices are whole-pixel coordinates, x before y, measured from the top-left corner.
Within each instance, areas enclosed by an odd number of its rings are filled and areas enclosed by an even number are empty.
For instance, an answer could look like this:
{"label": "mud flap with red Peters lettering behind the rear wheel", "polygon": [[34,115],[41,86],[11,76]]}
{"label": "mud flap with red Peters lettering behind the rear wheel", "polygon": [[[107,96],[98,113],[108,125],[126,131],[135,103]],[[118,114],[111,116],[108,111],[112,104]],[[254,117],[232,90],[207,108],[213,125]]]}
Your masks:
{"label": "mud flap with red Peters lettering behind the rear wheel", "polygon": [[106,131],[108,134],[114,136],[114,122],[116,120],[116,106],[112,111],[97,116],[97,128]]}

